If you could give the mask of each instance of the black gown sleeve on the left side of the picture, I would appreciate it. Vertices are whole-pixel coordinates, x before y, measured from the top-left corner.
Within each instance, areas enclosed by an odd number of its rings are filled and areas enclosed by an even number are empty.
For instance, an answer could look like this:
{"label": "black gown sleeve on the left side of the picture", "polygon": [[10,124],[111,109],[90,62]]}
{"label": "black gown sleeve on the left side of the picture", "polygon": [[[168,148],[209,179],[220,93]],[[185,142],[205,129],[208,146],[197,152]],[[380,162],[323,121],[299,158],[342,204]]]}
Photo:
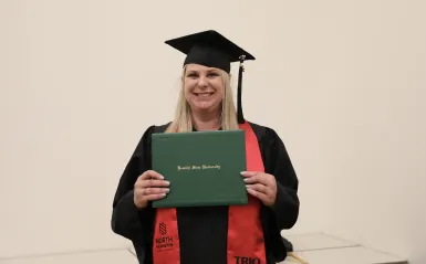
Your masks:
{"label": "black gown sleeve on the left side of the picture", "polygon": [[124,172],[118,181],[113,201],[111,226],[114,233],[120,234],[136,244],[144,243],[148,235],[153,209],[137,209],[133,200],[133,189],[137,178],[150,169],[150,126],[142,136]]}

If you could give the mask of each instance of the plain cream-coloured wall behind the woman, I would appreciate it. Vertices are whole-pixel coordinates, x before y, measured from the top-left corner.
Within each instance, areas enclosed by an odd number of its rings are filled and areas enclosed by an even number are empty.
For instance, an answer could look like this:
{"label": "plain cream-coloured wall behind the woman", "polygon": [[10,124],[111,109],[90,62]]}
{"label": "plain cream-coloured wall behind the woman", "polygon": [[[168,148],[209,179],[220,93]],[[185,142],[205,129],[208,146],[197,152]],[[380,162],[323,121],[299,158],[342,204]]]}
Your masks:
{"label": "plain cream-coloured wall behind the woman", "polygon": [[299,175],[284,233],[426,262],[426,3],[202,3],[0,2],[0,257],[128,245],[112,199],[143,131],[173,116],[184,56],[163,43],[216,29],[257,57],[245,114]]}

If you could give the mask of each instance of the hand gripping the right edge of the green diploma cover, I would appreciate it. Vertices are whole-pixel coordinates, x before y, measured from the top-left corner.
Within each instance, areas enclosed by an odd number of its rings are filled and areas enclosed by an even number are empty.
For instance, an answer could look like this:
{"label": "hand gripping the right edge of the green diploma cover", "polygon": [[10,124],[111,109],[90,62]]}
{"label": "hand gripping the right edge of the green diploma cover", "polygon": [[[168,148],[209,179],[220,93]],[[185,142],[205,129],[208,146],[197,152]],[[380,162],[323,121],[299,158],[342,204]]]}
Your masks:
{"label": "hand gripping the right edge of the green diploma cover", "polygon": [[264,205],[272,207],[277,198],[277,181],[276,177],[264,172],[243,171],[247,191],[259,198]]}

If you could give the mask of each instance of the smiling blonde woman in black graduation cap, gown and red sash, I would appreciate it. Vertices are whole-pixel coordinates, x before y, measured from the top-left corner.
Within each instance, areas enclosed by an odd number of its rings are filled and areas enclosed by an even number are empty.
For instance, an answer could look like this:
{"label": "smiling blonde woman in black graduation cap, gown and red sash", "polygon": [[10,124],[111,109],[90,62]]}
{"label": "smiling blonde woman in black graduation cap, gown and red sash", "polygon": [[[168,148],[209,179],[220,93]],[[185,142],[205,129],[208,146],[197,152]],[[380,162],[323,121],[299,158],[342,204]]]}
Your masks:
{"label": "smiling blonde woman in black graduation cap, gown and red sash", "polygon": [[[216,31],[166,43],[187,54],[176,116],[169,124],[150,126],[142,136],[117,187],[113,231],[133,242],[141,264],[272,264],[283,261],[287,251],[280,231],[292,228],[298,220],[298,178],[276,131],[243,119],[242,61],[254,57]],[[230,63],[235,61],[241,62],[238,112],[229,75]],[[154,209],[152,201],[166,197],[173,186],[167,182],[167,176],[152,170],[150,135],[217,129],[246,131],[248,171],[242,176],[249,204],[238,209]],[[160,232],[164,223],[172,226],[167,232],[178,234],[177,241],[169,241],[167,251],[155,246],[164,242]]]}

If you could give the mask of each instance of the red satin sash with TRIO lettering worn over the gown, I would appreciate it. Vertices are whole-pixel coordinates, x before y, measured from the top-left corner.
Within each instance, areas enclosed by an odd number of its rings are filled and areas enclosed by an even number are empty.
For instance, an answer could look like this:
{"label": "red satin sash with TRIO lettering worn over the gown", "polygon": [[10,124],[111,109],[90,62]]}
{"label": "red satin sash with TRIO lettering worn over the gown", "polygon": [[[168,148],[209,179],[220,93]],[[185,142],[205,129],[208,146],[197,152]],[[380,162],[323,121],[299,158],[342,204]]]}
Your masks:
{"label": "red satin sash with TRIO lettering worn over the gown", "polygon": [[[262,172],[263,161],[254,131],[247,122],[240,128],[246,133],[247,170]],[[153,242],[154,264],[180,264],[176,209],[157,209]],[[247,205],[229,207],[227,255],[227,264],[267,263],[260,201],[250,194]]]}

